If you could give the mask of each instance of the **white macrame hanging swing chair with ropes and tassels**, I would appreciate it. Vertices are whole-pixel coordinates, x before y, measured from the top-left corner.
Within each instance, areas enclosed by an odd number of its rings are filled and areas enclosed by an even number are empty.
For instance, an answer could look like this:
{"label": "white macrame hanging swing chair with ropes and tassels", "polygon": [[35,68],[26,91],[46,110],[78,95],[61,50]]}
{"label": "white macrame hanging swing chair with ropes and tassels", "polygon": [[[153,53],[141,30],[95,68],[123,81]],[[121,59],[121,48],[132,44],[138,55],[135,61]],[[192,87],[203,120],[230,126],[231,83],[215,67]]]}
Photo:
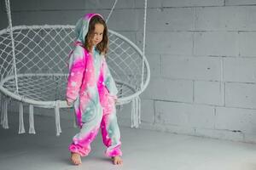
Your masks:
{"label": "white macrame hanging swing chair with ropes and tassels", "polygon": [[[113,13],[113,7],[108,19]],[[9,128],[8,104],[20,103],[19,133],[26,133],[23,103],[29,105],[29,133],[35,133],[33,108],[54,108],[56,135],[61,133],[60,108],[65,101],[67,56],[73,49],[74,26],[12,26],[10,3],[5,0],[9,27],[0,31],[1,125]],[[147,0],[144,6],[143,52],[133,42],[109,30],[108,65],[119,89],[117,105],[131,102],[131,127],[141,122],[139,95],[148,86],[145,58]],[[108,22],[108,19],[106,20]]]}

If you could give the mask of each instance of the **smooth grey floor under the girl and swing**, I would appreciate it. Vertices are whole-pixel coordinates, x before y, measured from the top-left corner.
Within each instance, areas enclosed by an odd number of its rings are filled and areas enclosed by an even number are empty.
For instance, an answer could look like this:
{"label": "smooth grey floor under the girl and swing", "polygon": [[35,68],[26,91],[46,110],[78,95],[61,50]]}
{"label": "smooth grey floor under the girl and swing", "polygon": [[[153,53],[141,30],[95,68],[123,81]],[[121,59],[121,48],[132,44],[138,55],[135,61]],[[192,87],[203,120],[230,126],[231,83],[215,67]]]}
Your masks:
{"label": "smooth grey floor under the girl and swing", "polygon": [[[172,133],[120,127],[124,165],[114,166],[103,156],[104,146],[98,135],[90,156],[73,166],[67,145],[78,129],[61,120],[62,134],[55,136],[52,117],[36,116],[37,134],[18,135],[18,118],[9,120],[9,130],[0,128],[1,170],[255,170],[256,144],[203,139]],[[26,119],[27,120],[27,119]],[[26,126],[27,127],[27,126]]]}

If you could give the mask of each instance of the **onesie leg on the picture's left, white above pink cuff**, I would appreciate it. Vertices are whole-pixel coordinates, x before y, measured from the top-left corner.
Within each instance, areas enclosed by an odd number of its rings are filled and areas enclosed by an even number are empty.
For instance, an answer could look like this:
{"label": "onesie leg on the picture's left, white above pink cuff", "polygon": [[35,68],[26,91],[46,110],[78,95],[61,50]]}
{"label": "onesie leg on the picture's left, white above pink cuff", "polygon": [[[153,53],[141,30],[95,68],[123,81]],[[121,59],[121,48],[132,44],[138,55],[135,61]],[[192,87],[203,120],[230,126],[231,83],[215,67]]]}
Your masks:
{"label": "onesie leg on the picture's left, white above pink cuff", "polygon": [[85,122],[80,132],[73,137],[73,143],[70,144],[69,150],[80,156],[87,156],[90,153],[90,143],[96,138],[101,121],[102,109],[99,108],[96,116],[90,122]]}

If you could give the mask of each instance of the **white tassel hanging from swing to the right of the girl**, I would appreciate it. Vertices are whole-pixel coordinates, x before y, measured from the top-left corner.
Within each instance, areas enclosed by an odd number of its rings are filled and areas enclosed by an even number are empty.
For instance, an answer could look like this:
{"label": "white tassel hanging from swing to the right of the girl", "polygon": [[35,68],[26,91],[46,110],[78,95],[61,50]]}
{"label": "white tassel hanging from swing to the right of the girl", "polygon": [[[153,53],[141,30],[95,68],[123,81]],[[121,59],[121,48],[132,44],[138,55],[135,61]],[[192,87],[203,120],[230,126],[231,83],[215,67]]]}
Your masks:
{"label": "white tassel hanging from swing to the right of the girl", "polygon": [[139,127],[141,123],[141,99],[139,96],[131,100],[131,127]]}

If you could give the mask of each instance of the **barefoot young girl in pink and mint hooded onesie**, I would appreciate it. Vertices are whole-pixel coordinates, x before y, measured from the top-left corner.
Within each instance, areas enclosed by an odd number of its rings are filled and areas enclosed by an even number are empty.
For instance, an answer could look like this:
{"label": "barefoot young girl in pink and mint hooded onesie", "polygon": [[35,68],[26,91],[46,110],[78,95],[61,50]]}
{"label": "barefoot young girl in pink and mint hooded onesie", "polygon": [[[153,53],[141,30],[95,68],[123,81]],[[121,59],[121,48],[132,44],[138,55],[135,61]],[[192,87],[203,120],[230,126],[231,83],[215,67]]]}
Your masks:
{"label": "barefoot young girl in pink and mint hooded onesie", "polygon": [[108,51],[108,28],[100,14],[86,14],[76,27],[77,40],[70,54],[67,80],[67,105],[74,105],[80,132],[70,144],[73,164],[81,164],[90,143],[101,127],[105,155],[113,164],[122,164],[120,133],[115,101],[118,90],[105,59]]}

